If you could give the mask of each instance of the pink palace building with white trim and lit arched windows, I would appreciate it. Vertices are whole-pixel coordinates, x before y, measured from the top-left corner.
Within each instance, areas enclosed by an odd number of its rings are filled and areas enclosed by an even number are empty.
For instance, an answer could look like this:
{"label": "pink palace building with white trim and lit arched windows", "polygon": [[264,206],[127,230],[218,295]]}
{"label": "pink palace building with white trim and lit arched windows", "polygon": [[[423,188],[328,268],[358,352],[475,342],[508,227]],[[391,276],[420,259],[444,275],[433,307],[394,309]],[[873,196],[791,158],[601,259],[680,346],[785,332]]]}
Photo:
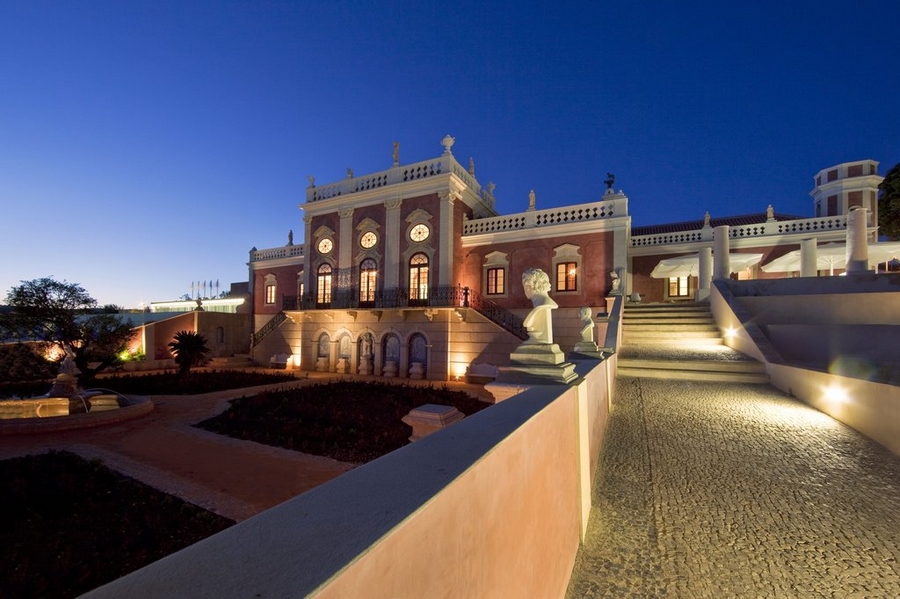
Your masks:
{"label": "pink palace building with white trim and lit arched windows", "polygon": [[[816,216],[774,212],[632,227],[628,198],[607,181],[586,203],[497,213],[493,185],[442,141],[436,158],[317,184],[301,204],[303,242],[250,251],[251,354],[310,371],[460,380],[508,364],[526,337],[531,302],[522,273],[550,278],[554,341],[571,351],[583,306],[607,312],[630,301],[703,300],[715,265],[735,278],[767,272],[776,258],[842,244],[847,214],[867,210],[877,231],[878,163],[824,169],[811,195]],[[718,236],[718,239],[717,239]],[[725,266],[718,261],[729,256]],[[808,274],[808,273],[804,273]],[[827,273],[826,273],[827,274]],[[600,319],[602,321],[602,316]],[[599,331],[603,327],[598,327]],[[602,346],[602,340],[600,345]]]}

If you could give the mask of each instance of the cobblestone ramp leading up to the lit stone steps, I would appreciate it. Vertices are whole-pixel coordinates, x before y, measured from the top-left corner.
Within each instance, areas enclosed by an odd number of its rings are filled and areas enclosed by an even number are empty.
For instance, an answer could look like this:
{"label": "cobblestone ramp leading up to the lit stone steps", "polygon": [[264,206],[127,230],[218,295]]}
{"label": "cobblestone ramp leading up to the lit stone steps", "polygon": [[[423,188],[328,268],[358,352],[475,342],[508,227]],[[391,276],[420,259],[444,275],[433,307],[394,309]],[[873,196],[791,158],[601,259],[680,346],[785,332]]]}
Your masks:
{"label": "cobblestone ramp leading up to the lit stone steps", "polygon": [[900,597],[900,458],[766,385],[622,377],[568,597]]}

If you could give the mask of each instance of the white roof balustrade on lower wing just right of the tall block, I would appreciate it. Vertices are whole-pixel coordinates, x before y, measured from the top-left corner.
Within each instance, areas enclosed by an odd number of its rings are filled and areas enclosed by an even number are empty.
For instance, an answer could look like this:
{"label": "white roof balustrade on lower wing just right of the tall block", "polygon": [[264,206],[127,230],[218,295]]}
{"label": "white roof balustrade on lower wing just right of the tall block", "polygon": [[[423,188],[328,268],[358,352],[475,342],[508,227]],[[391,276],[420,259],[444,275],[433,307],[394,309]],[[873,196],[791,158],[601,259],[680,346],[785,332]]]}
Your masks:
{"label": "white roof balustrade on lower wing just right of the tall block", "polygon": [[530,210],[508,216],[492,216],[466,221],[463,224],[463,235],[479,235],[483,233],[499,233],[532,227],[547,227],[593,220],[602,220],[614,216],[627,216],[627,200],[615,199],[562,208]]}

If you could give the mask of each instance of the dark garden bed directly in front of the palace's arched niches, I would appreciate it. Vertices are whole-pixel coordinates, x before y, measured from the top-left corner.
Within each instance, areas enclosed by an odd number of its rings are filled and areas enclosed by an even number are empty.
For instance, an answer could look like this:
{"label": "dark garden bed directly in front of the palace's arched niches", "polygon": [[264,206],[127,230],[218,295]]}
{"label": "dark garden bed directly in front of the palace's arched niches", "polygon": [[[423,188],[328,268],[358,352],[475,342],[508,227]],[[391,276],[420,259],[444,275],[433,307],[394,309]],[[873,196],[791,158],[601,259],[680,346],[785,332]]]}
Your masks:
{"label": "dark garden bed directly in front of the palace's arched niches", "polygon": [[466,416],[488,407],[462,391],[381,383],[338,382],[268,391],[231,402],[231,407],[197,426],[248,439],[364,463],[409,442],[401,421],[423,404],[456,407]]}

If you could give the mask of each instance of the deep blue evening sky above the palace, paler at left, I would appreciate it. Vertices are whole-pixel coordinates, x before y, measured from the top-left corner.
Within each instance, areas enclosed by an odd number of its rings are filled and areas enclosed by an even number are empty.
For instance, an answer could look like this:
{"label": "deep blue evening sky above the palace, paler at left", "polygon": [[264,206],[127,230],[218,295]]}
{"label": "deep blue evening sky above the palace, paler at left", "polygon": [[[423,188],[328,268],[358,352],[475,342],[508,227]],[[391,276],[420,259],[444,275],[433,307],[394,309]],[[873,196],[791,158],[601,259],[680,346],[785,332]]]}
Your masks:
{"label": "deep blue evening sky above the palace, paler at left", "polygon": [[456,138],[502,213],[811,215],[820,169],[900,162],[900,2],[0,0],[0,298],[135,307],[246,280],[318,183]]}

